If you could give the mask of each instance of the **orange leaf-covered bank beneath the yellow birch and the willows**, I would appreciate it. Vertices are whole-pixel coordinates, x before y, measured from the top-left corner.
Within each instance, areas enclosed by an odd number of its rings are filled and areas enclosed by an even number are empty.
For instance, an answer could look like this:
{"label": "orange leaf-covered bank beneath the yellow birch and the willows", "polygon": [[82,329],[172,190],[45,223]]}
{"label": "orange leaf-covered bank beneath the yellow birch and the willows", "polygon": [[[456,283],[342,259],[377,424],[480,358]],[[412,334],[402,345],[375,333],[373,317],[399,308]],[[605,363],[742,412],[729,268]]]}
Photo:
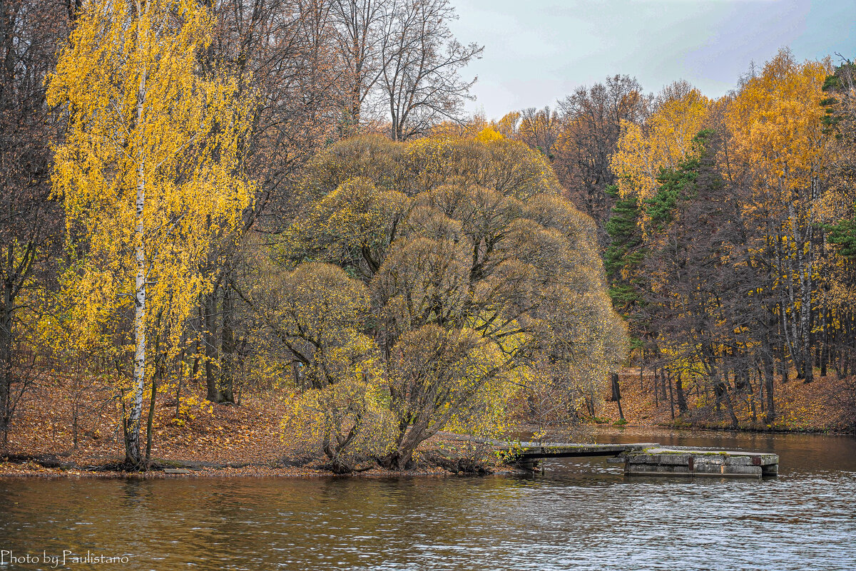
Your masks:
{"label": "orange leaf-covered bank beneath the yellow birch and the willows", "polygon": [[[31,391],[21,404],[9,440],[0,450],[0,477],[73,476],[84,478],[173,477],[316,477],[330,476],[327,459],[305,441],[281,428],[287,402],[277,391],[245,393],[241,406],[211,405],[204,387],[185,388],[179,414],[175,397],[156,399],[152,423],[151,468],[145,473],[125,472],[122,462],[120,415],[105,398],[106,387],[91,386],[76,395],[89,408],[68,406],[62,386]],[[74,401],[73,401],[74,402]],[[146,443],[145,427],[143,445]],[[491,471],[513,471],[484,446],[473,442],[434,437],[414,456],[416,468],[392,472],[366,462],[359,477],[455,474],[463,464]]]}

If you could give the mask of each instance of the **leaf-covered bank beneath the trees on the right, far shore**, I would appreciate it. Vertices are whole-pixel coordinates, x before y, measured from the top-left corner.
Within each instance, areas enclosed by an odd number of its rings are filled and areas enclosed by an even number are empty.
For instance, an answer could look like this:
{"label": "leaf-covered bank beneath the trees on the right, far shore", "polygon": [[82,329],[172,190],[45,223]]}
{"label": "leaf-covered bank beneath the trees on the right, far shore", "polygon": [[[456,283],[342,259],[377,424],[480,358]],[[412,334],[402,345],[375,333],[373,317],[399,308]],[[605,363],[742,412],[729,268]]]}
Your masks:
{"label": "leaf-covered bank beneath the trees on the right, far shore", "polygon": [[[792,377],[787,383],[776,378],[773,393],[776,416],[771,423],[764,421],[766,411],[757,395],[733,393],[734,415],[737,430],[782,433],[841,433],[853,434],[856,430],[856,385],[853,380],[838,379],[835,374],[805,384]],[[686,387],[687,413],[679,414],[675,388],[669,397],[663,386],[654,394],[651,374],[639,376],[639,369],[626,369],[619,375],[621,409],[627,426],[677,427],[702,430],[734,430],[722,405],[716,411],[713,396],[699,391],[696,386]],[[757,389],[757,387],[755,387]],[[618,404],[609,402],[611,391],[603,391],[605,403],[597,421],[621,426]]]}

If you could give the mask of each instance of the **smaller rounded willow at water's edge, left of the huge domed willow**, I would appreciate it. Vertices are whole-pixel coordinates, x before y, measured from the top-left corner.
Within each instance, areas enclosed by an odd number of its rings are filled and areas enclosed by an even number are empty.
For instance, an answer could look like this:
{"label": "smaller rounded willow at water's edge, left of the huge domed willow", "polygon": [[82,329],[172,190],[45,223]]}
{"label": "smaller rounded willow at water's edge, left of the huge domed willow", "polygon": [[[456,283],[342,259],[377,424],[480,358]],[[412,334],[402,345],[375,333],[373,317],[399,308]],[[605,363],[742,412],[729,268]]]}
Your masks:
{"label": "smaller rounded willow at water's edge, left of the huge domed willow", "polygon": [[[259,340],[288,349],[294,386],[301,390],[282,419],[288,439],[319,444],[327,467],[340,474],[353,472],[360,456],[383,453],[389,415],[381,405],[377,344],[363,333],[370,310],[366,285],[342,268],[310,262],[293,272],[251,275],[246,286],[241,296],[261,318]],[[265,360],[269,370],[276,366],[275,355]]]}

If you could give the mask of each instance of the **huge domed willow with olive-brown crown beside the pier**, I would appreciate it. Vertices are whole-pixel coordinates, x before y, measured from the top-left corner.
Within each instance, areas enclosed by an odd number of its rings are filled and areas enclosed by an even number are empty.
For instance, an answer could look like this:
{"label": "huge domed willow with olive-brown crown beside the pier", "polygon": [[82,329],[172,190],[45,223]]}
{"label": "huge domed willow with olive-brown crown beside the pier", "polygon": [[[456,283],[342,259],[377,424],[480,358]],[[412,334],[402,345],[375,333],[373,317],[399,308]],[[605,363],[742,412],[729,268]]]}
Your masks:
{"label": "huge domed willow with olive-brown crown beside the pier", "polygon": [[[547,383],[574,409],[623,359],[593,222],[525,145],[354,138],[319,156],[299,190],[306,207],[278,263],[298,268],[291,280],[333,266],[366,288],[360,328],[382,356],[372,378],[395,427],[389,467],[443,427],[496,427],[515,387]],[[282,312],[269,322],[300,362],[330,352]]]}

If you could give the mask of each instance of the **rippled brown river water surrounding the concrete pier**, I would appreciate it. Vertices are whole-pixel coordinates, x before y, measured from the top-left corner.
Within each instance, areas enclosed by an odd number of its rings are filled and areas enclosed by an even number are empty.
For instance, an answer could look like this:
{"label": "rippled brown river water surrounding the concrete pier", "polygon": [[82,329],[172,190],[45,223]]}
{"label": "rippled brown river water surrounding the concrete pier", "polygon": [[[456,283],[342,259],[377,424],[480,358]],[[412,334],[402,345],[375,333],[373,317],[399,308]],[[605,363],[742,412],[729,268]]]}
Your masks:
{"label": "rippled brown river water surrounding the concrete pier", "polygon": [[[856,569],[856,439],[627,429],[597,442],[772,450],[780,475],[628,479],[570,458],[484,478],[0,480],[0,571],[63,568],[63,550],[64,568],[93,570]],[[71,559],[87,552],[126,559]]]}

